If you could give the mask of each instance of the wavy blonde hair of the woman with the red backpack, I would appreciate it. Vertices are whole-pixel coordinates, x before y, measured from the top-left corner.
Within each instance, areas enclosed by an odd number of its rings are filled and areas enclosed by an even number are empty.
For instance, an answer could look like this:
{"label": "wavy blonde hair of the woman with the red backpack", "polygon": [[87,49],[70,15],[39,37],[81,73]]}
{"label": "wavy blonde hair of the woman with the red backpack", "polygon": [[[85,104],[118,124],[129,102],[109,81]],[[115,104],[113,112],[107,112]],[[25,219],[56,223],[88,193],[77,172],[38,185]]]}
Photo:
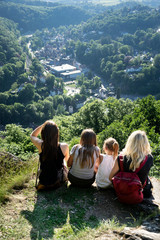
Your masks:
{"label": "wavy blonde hair of the woman with the red backpack", "polygon": [[135,171],[145,156],[151,153],[150,144],[147,135],[144,131],[137,130],[131,133],[128,137],[125,148],[122,151],[128,160],[131,158],[130,169]]}

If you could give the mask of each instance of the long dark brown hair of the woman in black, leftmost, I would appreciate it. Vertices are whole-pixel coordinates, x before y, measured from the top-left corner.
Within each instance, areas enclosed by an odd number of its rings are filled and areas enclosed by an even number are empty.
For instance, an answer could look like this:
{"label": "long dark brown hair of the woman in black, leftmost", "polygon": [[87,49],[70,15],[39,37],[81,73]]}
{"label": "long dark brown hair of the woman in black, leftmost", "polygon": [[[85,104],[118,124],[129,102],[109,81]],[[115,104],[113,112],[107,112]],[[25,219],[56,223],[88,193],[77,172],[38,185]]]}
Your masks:
{"label": "long dark brown hair of the woman in black, leftmost", "polygon": [[46,121],[42,131],[41,138],[42,143],[42,160],[46,160],[49,154],[52,154],[53,158],[57,158],[57,148],[59,143],[59,129],[53,121]]}

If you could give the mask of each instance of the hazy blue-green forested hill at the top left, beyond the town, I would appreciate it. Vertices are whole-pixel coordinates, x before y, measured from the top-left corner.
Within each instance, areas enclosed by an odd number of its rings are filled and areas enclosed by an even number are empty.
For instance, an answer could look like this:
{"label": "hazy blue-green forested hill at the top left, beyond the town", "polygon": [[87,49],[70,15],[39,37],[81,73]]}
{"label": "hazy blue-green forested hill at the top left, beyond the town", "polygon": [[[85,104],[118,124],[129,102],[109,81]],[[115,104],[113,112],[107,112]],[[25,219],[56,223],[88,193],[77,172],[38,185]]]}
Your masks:
{"label": "hazy blue-green forested hill at the top left, beyond the town", "polygon": [[90,17],[85,10],[72,6],[33,6],[4,1],[0,4],[0,16],[18,23],[23,32],[74,25]]}

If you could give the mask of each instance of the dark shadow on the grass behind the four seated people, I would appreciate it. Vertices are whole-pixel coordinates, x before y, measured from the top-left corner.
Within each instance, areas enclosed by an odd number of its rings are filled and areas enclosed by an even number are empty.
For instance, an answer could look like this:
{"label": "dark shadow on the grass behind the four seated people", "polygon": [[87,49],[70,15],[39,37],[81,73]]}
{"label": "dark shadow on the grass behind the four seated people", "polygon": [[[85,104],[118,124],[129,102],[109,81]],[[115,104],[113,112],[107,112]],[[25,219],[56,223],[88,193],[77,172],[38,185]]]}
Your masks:
{"label": "dark shadow on the grass behind the four seated people", "polygon": [[21,214],[32,225],[31,239],[41,240],[53,239],[55,234],[67,239],[67,235],[96,228],[101,221],[113,218],[120,226],[131,226],[140,218],[141,210],[139,205],[119,203],[113,189],[98,191],[96,187],[83,189],[70,185],[37,192],[34,210]]}

